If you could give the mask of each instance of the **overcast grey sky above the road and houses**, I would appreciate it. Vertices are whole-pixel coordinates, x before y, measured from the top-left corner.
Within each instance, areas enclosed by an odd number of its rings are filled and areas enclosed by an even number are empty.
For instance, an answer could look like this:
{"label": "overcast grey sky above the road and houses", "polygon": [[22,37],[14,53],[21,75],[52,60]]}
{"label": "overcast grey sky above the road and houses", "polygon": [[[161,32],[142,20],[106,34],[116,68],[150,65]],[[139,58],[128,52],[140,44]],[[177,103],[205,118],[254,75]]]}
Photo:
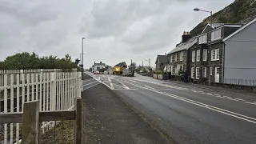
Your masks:
{"label": "overcast grey sky above the road and houses", "polygon": [[0,61],[18,52],[80,58],[114,66],[133,59],[154,66],[157,54],[174,49],[183,31],[234,0],[0,0]]}

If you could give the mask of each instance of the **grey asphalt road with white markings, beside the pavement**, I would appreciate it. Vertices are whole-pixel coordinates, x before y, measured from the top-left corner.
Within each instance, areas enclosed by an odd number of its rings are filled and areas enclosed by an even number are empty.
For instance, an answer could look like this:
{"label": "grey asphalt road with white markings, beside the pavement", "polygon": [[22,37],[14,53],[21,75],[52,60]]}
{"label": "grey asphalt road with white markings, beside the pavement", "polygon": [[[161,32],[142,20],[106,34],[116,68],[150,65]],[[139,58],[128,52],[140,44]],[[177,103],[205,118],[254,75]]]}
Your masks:
{"label": "grey asphalt road with white markings, beside the pavement", "polygon": [[135,77],[94,75],[86,90],[102,83],[144,114],[174,141],[255,144],[256,96]]}

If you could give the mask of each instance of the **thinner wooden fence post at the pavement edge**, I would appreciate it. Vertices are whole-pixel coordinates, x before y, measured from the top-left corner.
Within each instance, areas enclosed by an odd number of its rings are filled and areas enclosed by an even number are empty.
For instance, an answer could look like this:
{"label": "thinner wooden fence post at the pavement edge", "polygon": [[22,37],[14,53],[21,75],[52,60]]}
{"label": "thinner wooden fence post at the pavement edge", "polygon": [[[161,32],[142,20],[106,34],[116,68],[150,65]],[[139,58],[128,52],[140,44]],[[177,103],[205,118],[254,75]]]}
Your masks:
{"label": "thinner wooden fence post at the pavement edge", "polygon": [[82,144],[82,98],[74,98],[74,143]]}

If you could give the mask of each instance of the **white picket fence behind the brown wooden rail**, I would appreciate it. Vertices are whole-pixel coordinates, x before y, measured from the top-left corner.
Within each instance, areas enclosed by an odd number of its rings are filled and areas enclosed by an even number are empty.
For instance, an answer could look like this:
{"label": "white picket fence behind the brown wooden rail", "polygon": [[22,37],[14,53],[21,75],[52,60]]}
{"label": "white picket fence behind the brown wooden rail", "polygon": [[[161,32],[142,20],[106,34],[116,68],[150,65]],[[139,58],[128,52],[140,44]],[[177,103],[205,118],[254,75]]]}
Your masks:
{"label": "white picket fence behind the brown wooden rail", "polygon": [[[70,110],[81,98],[81,72],[9,71],[0,73],[0,113],[22,112],[24,102],[39,100],[40,110]],[[42,122],[42,133],[54,122]],[[4,124],[0,143],[20,143],[20,124]],[[14,130],[15,129],[15,130]],[[0,126],[0,138],[1,135]],[[15,141],[15,142],[14,142]]]}

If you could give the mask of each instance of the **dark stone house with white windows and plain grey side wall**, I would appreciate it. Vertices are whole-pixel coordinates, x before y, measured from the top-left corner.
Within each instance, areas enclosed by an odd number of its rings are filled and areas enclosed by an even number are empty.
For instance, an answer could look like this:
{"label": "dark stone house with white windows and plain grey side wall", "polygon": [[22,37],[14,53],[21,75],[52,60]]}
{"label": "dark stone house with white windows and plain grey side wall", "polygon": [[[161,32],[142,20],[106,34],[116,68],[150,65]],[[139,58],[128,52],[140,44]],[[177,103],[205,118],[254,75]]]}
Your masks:
{"label": "dark stone house with white windows and plain grey side wall", "polygon": [[255,21],[206,26],[190,50],[191,78],[198,82],[232,84],[237,83],[230,79],[256,79]]}

